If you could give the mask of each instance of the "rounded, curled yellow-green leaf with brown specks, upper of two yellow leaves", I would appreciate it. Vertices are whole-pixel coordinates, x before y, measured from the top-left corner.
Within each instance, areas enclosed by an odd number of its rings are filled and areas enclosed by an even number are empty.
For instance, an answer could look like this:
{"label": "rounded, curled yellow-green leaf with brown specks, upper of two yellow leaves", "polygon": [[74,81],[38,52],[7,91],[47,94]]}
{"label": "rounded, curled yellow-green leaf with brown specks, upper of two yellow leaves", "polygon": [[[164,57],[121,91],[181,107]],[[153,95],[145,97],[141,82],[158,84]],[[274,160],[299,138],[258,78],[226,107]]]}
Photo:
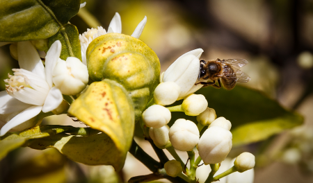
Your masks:
{"label": "rounded, curled yellow-green leaf with brown specks, upper of two yellow leaves", "polygon": [[86,59],[90,78],[115,80],[125,87],[139,119],[159,84],[160,62],[154,51],[135,37],[109,33],[89,44]]}

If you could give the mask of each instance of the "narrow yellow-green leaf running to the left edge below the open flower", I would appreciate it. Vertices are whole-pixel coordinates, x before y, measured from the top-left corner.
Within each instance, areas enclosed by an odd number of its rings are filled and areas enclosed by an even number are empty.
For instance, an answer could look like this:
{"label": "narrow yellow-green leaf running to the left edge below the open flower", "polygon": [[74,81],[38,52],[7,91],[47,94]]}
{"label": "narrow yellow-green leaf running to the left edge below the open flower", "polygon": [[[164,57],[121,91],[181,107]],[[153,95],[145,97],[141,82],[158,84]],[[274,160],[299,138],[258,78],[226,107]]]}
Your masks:
{"label": "narrow yellow-green leaf running to the left edge below the open flower", "polygon": [[10,151],[24,146],[29,139],[49,137],[53,134],[58,134],[67,130],[75,131],[80,130],[80,128],[63,125],[39,125],[19,132],[18,134],[7,133],[5,136],[1,137],[0,140],[0,159],[5,157]]}

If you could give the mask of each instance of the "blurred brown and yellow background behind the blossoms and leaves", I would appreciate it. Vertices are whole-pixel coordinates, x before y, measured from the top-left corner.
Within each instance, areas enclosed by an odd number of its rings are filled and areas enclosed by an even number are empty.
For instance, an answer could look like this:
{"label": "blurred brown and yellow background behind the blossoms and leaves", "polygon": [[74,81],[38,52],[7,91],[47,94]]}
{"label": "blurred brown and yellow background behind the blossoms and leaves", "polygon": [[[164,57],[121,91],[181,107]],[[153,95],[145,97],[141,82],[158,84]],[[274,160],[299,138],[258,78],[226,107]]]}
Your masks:
{"label": "blurred brown and yellow background behind the blossoms and leaves", "polygon": [[[244,148],[261,149],[262,153],[256,155],[256,183],[313,182],[313,0],[86,2],[79,15],[70,20],[79,33],[97,26],[107,30],[115,12],[119,12],[122,33],[131,35],[147,16],[140,39],[159,56],[161,71],[180,55],[198,48],[204,50],[204,60],[248,60],[242,70],[251,80],[243,85],[296,110],[305,116],[305,123],[267,141],[236,148],[230,157]],[[3,79],[17,67],[8,45],[0,47],[1,91],[5,89]],[[56,121],[86,127],[62,115],[49,117],[43,123]],[[137,141],[157,159],[150,144]],[[186,153],[179,155],[186,161]],[[200,182],[209,173],[205,167],[201,169],[204,171],[198,175]],[[115,173],[111,166],[72,162],[54,149],[19,148],[0,162],[0,182],[127,182],[130,177],[148,173],[131,155],[123,171]]]}

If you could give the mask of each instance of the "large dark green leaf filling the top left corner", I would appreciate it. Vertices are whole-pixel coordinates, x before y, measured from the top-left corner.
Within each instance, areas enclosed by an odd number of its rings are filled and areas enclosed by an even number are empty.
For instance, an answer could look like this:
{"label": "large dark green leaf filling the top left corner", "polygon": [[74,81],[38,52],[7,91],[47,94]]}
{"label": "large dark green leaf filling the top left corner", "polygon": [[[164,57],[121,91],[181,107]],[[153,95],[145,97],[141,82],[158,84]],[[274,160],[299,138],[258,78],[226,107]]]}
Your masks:
{"label": "large dark green leaf filling the top left corner", "polygon": [[79,12],[80,0],[1,0],[0,42],[46,39]]}

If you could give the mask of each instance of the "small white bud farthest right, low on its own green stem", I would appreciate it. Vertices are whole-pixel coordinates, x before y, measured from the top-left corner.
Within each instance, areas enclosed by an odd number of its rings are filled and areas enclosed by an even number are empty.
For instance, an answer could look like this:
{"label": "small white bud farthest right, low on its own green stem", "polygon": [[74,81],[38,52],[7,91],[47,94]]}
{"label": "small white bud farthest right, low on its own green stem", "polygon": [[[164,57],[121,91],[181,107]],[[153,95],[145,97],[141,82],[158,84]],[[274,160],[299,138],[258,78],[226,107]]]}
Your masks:
{"label": "small white bud farthest right, low on its own green stem", "polygon": [[245,152],[241,153],[234,161],[234,166],[236,170],[241,172],[248,171],[255,167],[255,156],[251,153]]}

